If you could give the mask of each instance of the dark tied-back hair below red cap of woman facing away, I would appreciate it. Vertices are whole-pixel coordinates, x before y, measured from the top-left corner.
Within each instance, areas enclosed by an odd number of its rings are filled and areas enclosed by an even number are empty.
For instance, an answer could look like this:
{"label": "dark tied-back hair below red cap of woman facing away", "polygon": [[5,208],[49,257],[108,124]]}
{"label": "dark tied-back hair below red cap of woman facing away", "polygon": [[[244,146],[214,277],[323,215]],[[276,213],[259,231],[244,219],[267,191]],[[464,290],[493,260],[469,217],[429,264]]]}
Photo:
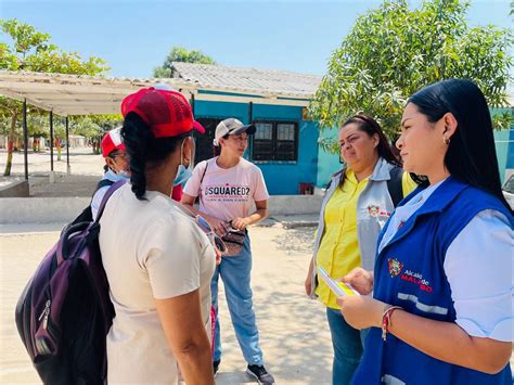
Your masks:
{"label": "dark tied-back hair below red cap of woman facing away", "polygon": [[138,114],[127,114],[121,127],[121,138],[130,157],[130,183],[138,200],[145,200],[145,170],[162,164],[189,136],[190,132],[178,137],[155,138]]}

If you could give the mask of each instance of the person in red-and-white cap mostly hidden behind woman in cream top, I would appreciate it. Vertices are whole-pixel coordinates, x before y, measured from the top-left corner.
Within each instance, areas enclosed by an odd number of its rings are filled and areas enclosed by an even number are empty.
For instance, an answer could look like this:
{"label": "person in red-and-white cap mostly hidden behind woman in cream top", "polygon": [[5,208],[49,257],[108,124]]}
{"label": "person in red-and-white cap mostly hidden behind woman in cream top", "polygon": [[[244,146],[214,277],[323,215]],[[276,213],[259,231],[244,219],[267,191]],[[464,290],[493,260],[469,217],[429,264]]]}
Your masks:
{"label": "person in red-and-white cap mostly hidden behind woman in cream top", "polygon": [[97,192],[91,201],[91,213],[93,219],[102,203],[102,198],[107,192],[111,184],[118,180],[128,180],[128,157],[125,151],[125,144],[120,136],[121,128],[115,128],[107,131],[102,139],[102,155],[105,158],[104,176],[97,185]]}

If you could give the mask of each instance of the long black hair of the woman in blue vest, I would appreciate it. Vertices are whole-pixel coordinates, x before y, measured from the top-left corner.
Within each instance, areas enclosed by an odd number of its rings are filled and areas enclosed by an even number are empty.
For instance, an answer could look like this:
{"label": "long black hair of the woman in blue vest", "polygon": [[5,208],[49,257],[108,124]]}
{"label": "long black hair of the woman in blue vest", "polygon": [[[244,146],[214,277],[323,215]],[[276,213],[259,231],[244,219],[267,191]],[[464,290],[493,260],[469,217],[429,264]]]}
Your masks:
{"label": "long black hair of the woman in blue vest", "polygon": [[421,89],[408,103],[431,123],[447,113],[455,117],[458,127],[445,155],[446,168],[452,177],[497,196],[511,210],[501,191],[491,115],[480,89],[468,79],[442,80]]}

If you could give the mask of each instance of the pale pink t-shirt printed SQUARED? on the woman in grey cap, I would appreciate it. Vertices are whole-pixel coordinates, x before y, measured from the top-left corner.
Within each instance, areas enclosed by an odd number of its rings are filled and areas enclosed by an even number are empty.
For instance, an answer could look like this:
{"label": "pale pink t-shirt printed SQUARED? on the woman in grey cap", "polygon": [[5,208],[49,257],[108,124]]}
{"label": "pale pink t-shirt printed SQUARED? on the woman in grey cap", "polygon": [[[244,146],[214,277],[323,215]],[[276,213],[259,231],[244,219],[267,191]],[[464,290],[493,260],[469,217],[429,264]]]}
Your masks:
{"label": "pale pink t-shirt printed SQUARED? on the woman in grey cap", "polygon": [[234,167],[221,168],[217,159],[215,157],[198,163],[184,188],[184,193],[188,195],[201,194],[202,213],[230,221],[237,217],[247,217],[254,202],[269,198],[260,168],[245,158],[241,158]]}

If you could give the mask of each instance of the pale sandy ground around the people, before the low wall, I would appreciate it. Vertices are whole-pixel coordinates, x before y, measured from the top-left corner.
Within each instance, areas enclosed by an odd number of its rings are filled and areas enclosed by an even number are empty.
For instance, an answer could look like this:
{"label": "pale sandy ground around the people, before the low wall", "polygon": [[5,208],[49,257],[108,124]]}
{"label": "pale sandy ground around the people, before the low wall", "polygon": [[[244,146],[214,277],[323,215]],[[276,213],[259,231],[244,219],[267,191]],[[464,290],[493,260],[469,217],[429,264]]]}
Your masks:
{"label": "pale sandy ground around the people, before the low wall", "polygon": [[[37,228],[37,227],[36,227]],[[55,242],[60,224],[47,232],[12,228],[0,235],[0,384],[39,384],[17,335],[14,307],[39,260]],[[16,233],[17,232],[17,233]],[[303,294],[313,228],[252,229],[253,290],[260,344],[277,384],[329,384],[332,345],[324,308]],[[217,384],[253,383],[230,322],[222,285],[220,317],[223,356]]]}

